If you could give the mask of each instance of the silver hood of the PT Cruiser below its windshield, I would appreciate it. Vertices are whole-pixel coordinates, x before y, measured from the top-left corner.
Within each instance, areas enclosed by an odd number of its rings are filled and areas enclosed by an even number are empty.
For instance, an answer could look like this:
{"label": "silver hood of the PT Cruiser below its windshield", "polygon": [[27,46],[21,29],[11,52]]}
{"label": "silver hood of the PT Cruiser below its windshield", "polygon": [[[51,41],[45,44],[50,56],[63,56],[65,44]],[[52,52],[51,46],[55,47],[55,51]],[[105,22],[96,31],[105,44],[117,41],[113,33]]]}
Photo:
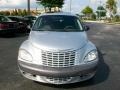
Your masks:
{"label": "silver hood of the PT Cruiser below its windshield", "polygon": [[76,50],[87,43],[87,36],[85,32],[31,31],[29,41],[44,50]]}

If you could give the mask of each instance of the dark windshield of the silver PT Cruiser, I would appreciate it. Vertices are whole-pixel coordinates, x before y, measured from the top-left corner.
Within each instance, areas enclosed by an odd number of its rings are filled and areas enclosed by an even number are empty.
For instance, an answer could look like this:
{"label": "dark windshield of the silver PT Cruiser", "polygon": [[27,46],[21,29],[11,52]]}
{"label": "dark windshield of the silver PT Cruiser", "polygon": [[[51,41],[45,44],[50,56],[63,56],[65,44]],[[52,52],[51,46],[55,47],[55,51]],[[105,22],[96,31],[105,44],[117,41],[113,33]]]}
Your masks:
{"label": "dark windshield of the silver PT Cruiser", "polygon": [[33,31],[83,31],[80,20],[75,16],[45,15],[37,19]]}

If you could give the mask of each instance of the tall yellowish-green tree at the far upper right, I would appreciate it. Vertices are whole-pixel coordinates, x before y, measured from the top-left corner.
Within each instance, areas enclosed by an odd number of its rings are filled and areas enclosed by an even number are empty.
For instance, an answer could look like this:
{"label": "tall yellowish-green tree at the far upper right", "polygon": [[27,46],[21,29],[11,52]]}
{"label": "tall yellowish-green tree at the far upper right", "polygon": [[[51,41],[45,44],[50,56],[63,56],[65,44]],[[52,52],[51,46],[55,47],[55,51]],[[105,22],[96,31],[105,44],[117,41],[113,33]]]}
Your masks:
{"label": "tall yellowish-green tree at the far upper right", "polygon": [[117,13],[117,2],[115,0],[107,0],[106,8],[108,9],[110,17],[112,18]]}

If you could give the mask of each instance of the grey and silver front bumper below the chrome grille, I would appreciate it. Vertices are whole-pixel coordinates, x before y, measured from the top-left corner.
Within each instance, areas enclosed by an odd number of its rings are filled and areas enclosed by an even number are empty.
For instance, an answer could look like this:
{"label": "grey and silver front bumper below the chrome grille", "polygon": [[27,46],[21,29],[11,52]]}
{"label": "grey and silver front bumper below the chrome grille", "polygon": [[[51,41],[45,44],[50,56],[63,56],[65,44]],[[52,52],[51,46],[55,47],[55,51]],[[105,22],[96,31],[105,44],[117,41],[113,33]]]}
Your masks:
{"label": "grey and silver front bumper below the chrome grille", "polygon": [[[97,65],[98,62],[95,61],[92,63],[87,63],[79,66],[64,68],[64,67],[40,66],[40,65],[26,63],[23,61],[18,61],[19,69],[26,78],[39,82],[52,83],[52,84],[68,84],[68,83],[75,83],[90,79],[95,75]],[[87,76],[87,77],[83,78],[83,76]],[[38,80],[38,77],[42,79]],[[55,79],[70,77],[72,79],[65,82],[59,82],[59,81],[50,82],[47,80],[49,77],[53,77]]]}

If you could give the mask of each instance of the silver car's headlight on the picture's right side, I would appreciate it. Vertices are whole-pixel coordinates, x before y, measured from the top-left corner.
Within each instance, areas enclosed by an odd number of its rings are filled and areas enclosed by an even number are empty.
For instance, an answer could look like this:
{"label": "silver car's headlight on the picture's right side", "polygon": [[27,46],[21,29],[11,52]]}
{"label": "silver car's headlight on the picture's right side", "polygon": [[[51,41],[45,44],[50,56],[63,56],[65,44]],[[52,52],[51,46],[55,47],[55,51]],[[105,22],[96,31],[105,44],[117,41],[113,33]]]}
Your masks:
{"label": "silver car's headlight on the picture's right side", "polygon": [[97,50],[92,50],[86,55],[85,61],[90,62],[90,61],[96,60],[97,58],[98,58]]}

